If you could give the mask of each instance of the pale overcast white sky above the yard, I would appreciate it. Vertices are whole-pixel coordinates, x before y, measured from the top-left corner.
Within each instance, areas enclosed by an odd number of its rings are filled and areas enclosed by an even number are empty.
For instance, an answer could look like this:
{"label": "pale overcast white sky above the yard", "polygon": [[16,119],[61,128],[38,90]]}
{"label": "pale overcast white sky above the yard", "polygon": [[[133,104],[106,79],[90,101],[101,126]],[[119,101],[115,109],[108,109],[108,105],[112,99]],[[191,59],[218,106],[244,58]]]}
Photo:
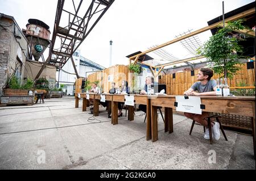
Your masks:
{"label": "pale overcast white sky above the yard", "polygon": [[[250,2],[253,0],[225,0],[225,12]],[[48,24],[51,33],[56,6],[57,0],[0,0],[0,12],[13,16],[20,28],[26,29],[30,18],[39,19]],[[208,26],[209,20],[221,14],[222,0],[115,0],[79,49],[82,56],[108,68],[109,41],[113,40],[113,65],[128,64],[128,54],[166,43],[184,31]],[[180,59],[187,54],[174,48],[170,53]]]}

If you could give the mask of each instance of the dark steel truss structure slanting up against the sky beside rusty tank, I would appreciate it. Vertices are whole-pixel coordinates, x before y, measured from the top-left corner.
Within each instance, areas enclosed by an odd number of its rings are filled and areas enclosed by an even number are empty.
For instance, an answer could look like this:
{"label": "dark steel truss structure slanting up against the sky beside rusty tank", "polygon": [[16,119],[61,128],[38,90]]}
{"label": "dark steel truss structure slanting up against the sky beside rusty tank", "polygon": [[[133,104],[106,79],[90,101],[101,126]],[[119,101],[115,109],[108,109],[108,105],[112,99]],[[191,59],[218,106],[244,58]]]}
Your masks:
{"label": "dark steel truss structure slanting up against the sky beside rusty tank", "polygon": [[[72,55],[113,2],[114,0],[91,0],[83,3],[82,0],[72,0],[73,10],[67,11],[63,9],[65,0],[58,0],[49,56],[35,79],[39,78],[46,64],[52,64],[61,69],[69,58],[71,58],[76,76],[79,78]],[[65,18],[61,19],[64,15]],[[61,27],[60,22],[64,26],[61,24]]]}

